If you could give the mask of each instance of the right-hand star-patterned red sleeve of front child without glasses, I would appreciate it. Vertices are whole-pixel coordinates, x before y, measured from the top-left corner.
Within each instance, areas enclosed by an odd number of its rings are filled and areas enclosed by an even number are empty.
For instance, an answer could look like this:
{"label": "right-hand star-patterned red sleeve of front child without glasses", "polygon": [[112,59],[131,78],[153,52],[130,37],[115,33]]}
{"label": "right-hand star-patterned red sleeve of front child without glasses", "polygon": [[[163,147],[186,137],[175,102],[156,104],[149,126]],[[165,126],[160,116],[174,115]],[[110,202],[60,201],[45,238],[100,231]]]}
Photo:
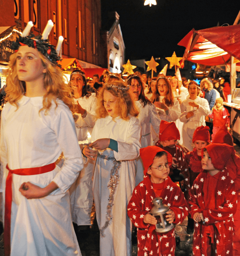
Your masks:
{"label": "right-hand star-patterned red sleeve of front child without glasses", "polygon": [[[217,197],[224,195],[224,191],[217,189]],[[217,201],[217,200],[216,200]],[[237,192],[234,188],[234,184],[229,184],[225,192],[225,198],[223,198],[223,204],[216,206],[217,209],[205,209],[203,210],[203,217],[206,224],[213,224],[232,217],[236,212],[237,207]]]}

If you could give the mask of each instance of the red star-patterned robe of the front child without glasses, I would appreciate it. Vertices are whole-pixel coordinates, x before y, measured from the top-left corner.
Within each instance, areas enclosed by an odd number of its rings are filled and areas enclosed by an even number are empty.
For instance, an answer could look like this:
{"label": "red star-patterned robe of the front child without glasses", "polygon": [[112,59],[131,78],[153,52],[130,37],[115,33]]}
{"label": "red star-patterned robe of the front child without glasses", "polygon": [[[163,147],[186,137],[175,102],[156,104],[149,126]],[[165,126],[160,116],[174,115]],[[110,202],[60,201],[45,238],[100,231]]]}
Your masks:
{"label": "red star-patterned robe of the front child without glasses", "polygon": [[203,171],[193,182],[189,191],[190,214],[203,213],[205,224],[195,222],[193,234],[193,255],[207,255],[207,236],[204,232],[204,225],[212,225],[215,230],[214,247],[216,255],[233,255],[233,214],[236,212],[237,193],[234,188],[234,181],[224,169],[220,173],[216,187],[216,208],[205,209],[203,201],[203,183],[207,177],[207,171]]}

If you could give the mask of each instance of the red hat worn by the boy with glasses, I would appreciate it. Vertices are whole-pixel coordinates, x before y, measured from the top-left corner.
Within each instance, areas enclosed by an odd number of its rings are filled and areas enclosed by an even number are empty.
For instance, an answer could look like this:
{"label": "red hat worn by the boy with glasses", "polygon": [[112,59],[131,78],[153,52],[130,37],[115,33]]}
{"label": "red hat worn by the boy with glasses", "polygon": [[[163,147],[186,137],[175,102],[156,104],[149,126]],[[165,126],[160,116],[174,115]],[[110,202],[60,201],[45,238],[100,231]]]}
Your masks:
{"label": "red hat worn by the boy with glasses", "polygon": [[[144,166],[144,175],[146,175],[148,167],[152,165],[153,159],[158,152],[165,151],[157,146],[148,146],[146,148],[140,148],[140,156],[142,158],[143,166]],[[172,156],[170,153],[167,153],[167,161],[172,165]]]}

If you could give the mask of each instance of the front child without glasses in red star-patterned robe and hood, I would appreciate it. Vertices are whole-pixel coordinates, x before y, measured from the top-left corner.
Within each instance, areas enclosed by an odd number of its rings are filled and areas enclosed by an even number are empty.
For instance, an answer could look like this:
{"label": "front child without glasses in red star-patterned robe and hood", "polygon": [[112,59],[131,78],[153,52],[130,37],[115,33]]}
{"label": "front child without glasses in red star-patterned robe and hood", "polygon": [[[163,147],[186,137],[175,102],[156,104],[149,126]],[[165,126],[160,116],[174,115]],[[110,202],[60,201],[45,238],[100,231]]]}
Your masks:
{"label": "front child without glasses in red star-patterned robe and hood", "polygon": [[195,223],[193,255],[233,255],[233,214],[237,195],[229,169],[236,169],[234,148],[210,144],[202,149],[202,168],[189,192]]}

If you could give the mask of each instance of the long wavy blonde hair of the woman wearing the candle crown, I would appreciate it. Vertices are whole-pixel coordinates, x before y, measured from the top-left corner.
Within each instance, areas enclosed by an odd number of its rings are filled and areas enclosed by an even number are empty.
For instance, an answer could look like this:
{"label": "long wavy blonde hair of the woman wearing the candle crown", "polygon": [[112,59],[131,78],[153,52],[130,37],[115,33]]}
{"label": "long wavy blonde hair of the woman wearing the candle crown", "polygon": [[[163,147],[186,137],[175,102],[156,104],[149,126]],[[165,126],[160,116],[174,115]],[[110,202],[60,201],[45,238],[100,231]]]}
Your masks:
{"label": "long wavy blonde hair of the woman wearing the candle crown", "polygon": [[[39,53],[39,52],[38,52]],[[73,108],[73,96],[72,89],[68,84],[65,84],[62,71],[52,64],[44,55],[39,53],[39,57],[42,60],[43,67],[47,70],[44,73],[44,88],[47,93],[43,96],[43,107],[39,110],[45,110],[45,115],[48,113],[52,105],[52,101],[55,102],[57,107],[57,99],[62,100],[69,108]],[[6,71],[6,101],[11,105],[15,105],[18,109],[18,101],[26,92],[26,84],[24,81],[20,81],[17,75],[17,53],[13,53],[10,56],[9,69]]]}

